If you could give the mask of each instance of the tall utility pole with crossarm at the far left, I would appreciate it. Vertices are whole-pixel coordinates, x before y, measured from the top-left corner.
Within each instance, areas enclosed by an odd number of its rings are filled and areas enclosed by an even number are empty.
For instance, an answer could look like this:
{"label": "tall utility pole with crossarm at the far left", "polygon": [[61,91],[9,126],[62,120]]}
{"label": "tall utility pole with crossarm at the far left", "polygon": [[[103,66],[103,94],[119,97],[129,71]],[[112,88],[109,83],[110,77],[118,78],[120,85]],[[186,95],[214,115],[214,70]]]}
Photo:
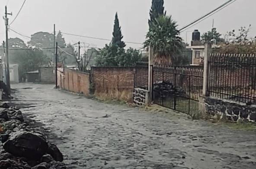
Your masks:
{"label": "tall utility pole with crossarm at the far left", "polygon": [[7,6],[5,6],[5,31],[6,31],[6,86],[8,88],[8,94],[11,93],[10,85],[10,65],[9,65],[9,55],[8,55],[8,18],[7,15],[12,15],[12,13],[7,13]]}

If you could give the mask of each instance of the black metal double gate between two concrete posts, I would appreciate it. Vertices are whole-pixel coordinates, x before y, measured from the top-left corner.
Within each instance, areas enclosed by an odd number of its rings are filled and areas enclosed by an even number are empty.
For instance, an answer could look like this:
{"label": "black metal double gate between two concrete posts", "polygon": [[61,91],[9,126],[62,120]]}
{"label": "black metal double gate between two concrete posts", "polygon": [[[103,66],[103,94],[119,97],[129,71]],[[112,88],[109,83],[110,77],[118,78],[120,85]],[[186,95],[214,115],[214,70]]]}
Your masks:
{"label": "black metal double gate between two concrete posts", "polygon": [[155,104],[189,115],[199,111],[202,68],[154,66],[152,81]]}

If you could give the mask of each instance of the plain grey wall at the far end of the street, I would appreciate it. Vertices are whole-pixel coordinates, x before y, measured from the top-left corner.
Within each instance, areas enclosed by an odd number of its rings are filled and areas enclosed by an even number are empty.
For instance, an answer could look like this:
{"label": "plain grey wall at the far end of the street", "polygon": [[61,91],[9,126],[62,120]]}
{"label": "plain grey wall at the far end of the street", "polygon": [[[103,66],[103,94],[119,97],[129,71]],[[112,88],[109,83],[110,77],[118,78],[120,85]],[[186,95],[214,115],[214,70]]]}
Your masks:
{"label": "plain grey wall at the far end of the street", "polygon": [[55,74],[53,67],[40,67],[39,80],[43,83],[55,83]]}

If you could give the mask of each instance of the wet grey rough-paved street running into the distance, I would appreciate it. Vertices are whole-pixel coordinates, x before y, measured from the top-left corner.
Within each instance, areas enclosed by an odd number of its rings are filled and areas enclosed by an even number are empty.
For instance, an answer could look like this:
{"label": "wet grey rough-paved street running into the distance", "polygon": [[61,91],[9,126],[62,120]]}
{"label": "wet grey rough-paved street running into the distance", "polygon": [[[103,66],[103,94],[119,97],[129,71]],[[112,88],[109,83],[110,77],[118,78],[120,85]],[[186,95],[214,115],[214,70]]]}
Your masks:
{"label": "wet grey rough-paved street running into the distance", "polygon": [[256,132],[105,104],[54,85],[12,88],[72,169],[256,169]]}

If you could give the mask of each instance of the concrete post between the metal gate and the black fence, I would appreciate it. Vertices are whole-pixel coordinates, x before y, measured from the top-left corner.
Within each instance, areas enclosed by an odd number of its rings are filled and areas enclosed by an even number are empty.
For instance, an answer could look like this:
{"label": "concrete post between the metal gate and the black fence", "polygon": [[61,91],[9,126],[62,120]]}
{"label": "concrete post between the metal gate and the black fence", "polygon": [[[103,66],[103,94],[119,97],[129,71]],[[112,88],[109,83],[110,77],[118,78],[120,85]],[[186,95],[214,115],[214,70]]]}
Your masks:
{"label": "concrete post between the metal gate and the black fence", "polygon": [[211,54],[211,44],[205,44],[205,57],[204,57],[204,80],[203,80],[203,96],[209,96],[208,92],[208,75],[210,69],[208,68],[208,61],[210,59]]}

